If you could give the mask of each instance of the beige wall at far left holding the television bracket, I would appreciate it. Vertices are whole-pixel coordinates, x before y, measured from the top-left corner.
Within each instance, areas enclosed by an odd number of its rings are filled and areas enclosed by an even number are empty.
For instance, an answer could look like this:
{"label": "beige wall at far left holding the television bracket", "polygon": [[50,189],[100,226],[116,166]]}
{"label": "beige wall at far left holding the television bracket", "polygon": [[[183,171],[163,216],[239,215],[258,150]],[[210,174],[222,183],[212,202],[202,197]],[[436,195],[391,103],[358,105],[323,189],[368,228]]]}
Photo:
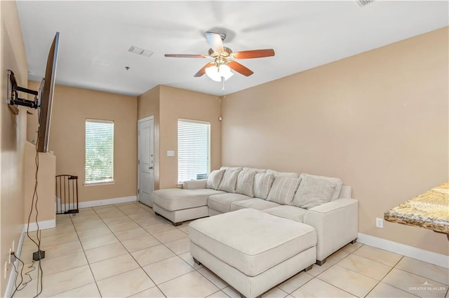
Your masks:
{"label": "beige wall at far left holding the television bracket", "polygon": [[18,84],[27,87],[27,59],[22,29],[14,1],[0,1],[0,295],[4,296],[12,267],[4,278],[4,264],[15,241],[17,248],[24,220],[24,148],[26,139],[26,110],[13,115],[6,104],[6,70],[15,73]]}

